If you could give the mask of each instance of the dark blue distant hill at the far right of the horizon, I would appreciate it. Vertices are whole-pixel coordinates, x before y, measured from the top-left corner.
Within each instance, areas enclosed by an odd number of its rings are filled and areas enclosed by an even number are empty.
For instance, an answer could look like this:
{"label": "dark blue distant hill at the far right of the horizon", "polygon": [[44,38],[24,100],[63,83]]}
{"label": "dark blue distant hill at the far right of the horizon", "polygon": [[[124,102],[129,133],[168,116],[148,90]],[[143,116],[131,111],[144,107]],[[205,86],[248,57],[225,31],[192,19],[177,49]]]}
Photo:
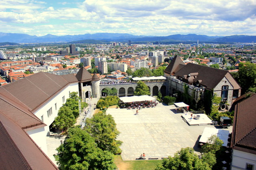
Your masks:
{"label": "dark blue distant hill at the far right of the horizon", "polygon": [[252,42],[256,42],[256,36],[246,36],[246,35],[224,36],[221,38],[216,38],[215,41],[217,41],[217,42],[252,43]]}

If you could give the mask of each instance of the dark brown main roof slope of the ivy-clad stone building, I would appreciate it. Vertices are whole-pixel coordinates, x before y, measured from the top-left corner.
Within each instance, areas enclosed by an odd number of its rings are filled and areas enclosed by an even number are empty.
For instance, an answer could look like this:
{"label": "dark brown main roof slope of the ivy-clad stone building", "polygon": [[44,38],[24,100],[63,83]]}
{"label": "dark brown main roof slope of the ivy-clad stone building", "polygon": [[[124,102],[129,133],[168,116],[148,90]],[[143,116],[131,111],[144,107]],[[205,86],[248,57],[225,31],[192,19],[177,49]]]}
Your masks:
{"label": "dark brown main roof slope of the ivy-clad stone building", "polygon": [[193,72],[198,72],[198,75],[194,81],[202,80],[201,85],[208,89],[213,89],[228,73],[226,70],[202,66],[200,64],[188,63],[174,75],[182,77],[183,75],[188,75]]}

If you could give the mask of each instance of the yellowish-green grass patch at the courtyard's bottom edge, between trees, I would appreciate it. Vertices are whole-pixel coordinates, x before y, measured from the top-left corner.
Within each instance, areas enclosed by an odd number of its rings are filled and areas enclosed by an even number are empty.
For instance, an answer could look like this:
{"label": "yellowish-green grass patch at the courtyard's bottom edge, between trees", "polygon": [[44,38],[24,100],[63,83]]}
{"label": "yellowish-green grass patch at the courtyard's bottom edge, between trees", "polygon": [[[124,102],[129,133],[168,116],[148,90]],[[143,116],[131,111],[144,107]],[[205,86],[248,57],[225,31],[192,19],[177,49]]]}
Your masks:
{"label": "yellowish-green grass patch at the courtyard's bottom edge, between trees", "polygon": [[154,170],[162,160],[123,161],[121,155],[115,155],[114,162],[119,170]]}

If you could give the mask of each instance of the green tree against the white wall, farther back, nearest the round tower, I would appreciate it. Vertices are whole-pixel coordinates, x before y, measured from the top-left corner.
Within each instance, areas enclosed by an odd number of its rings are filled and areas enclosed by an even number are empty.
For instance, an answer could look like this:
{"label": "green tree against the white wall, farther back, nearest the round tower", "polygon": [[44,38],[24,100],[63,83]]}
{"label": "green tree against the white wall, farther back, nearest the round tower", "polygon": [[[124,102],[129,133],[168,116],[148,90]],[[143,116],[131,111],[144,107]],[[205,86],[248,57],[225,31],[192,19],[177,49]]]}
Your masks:
{"label": "green tree against the white wall, farther back, nearest the round tower", "polygon": [[75,118],[79,116],[79,100],[81,102],[81,109],[88,106],[87,103],[82,102],[81,98],[78,96],[78,92],[75,91],[69,94],[69,98],[66,100],[66,103],[64,104],[64,106],[67,106],[72,110]]}

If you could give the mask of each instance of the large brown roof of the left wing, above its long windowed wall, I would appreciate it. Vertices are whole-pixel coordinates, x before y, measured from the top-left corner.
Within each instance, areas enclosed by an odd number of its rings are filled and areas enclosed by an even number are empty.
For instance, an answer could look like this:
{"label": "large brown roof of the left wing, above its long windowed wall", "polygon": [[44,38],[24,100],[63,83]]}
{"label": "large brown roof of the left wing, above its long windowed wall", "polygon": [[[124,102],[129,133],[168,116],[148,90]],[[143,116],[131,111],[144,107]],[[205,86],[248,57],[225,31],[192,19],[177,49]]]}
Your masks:
{"label": "large brown roof of the left wing, above its long windowed wall", "polygon": [[[50,100],[69,83],[78,82],[74,74],[59,76],[46,72],[38,72],[8,85],[1,86],[11,100],[19,101],[35,112],[39,106]],[[4,90],[3,90],[4,89]]]}

